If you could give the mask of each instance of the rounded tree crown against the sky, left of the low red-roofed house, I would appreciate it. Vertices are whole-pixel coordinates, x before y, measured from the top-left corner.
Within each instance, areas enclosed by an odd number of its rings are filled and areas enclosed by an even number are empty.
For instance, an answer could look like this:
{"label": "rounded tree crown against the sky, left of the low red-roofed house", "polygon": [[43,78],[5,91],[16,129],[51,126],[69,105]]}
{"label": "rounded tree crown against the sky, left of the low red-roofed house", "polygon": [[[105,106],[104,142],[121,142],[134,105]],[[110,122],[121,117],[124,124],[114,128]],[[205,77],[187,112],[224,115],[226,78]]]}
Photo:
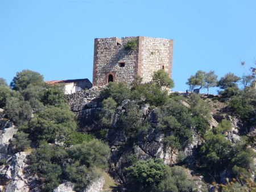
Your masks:
{"label": "rounded tree crown against the sky, left of the low red-roofed house", "polygon": [[22,72],[17,72],[16,76],[11,81],[11,88],[16,91],[26,89],[28,85],[44,85],[44,77],[38,73],[33,72],[32,70],[22,70]]}

